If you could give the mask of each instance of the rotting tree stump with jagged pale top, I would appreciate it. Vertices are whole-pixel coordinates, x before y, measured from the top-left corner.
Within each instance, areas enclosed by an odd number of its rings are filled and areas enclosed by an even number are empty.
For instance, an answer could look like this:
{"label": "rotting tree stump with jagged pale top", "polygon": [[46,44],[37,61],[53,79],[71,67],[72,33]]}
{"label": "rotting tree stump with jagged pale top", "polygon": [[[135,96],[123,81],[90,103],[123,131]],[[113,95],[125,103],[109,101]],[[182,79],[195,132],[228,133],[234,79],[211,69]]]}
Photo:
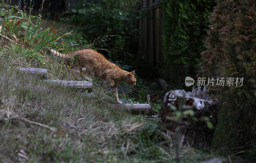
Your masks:
{"label": "rotting tree stump with jagged pale top", "polygon": [[[158,115],[164,124],[166,124],[168,130],[174,132],[175,128],[180,125],[180,133],[184,134],[187,142],[194,146],[211,145],[218,121],[218,100],[212,100],[205,93],[206,87],[203,90],[200,87],[196,89],[193,87],[192,92],[185,92],[184,90],[167,92]],[[182,99],[185,100],[183,106],[180,105]],[[179,111],[192,109],[194,116],[186,115],[182,117],[181,121],[183,123],[178,123],[171,116],[175,112],[172,109],[173,106],[178,108]],[[210,125],[212,127],[211,129],[209,128],[209,124],[212,124]]]}

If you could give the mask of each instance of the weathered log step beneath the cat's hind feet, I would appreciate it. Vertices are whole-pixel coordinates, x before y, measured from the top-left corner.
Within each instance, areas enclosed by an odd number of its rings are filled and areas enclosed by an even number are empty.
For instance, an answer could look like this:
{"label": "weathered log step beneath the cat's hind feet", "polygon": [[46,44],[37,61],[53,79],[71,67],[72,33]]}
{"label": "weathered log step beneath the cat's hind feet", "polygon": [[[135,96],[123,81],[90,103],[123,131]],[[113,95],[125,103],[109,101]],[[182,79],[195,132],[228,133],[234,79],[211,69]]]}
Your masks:
{"label": "weathered log step beneath the cat's hind feet", "polygon": [[89,81],[77,81],[77,80],[45,80],[46,82],[54,85],[62,85],[66,87],[80,88],[84,90],[92,90],[92,82]]}

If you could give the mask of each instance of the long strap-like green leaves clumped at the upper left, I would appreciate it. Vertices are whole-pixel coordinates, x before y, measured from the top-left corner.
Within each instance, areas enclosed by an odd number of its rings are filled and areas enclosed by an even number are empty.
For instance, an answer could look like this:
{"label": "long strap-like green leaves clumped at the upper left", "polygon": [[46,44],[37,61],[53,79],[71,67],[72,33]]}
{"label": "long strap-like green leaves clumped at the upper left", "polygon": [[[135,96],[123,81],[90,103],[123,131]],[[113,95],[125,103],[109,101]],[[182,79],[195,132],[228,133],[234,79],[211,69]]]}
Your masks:
{"label": "long strap-like green leaves clumped at the upper left", "polygon": [[0,16],[3,16],[0,22],[0,32],[1,37],[9,43],[41,50],[47,48],[50,43],[58,41],[59,37],[69,34],[65,33],[59,36],[51,27],[41,29],[41,19],[27,15],[19,10],[18,6],[10,6],[10,9],[4,8],[4,4],[0,4]]}

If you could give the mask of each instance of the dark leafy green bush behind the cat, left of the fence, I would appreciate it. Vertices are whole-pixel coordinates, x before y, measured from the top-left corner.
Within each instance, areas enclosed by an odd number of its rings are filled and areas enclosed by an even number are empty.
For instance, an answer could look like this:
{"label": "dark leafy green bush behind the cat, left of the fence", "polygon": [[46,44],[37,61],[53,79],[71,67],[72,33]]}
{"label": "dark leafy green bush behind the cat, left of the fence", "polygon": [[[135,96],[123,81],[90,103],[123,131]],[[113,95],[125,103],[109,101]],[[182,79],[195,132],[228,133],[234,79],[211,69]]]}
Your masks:
{"label": "dark leafy green bush behind the cat, left of the fence", "polygon": [[[80,9],[67,11],[67,16],[61,20],[78,26],[77,32],[83,33],[86,40],[94,47],[106,49],[102,51],[113,60],[124,60],[124,55],[130,55],[135,45],[136,1],[102,0],[80,1]],[[138,17],[139,19],[139,17]],[[101,35],[100,37],[98,37]],[[97,39],[95,39],[97,38]],[[109,41],[111,40],[111,41]],[[108,53],[109,52],[109,53]]]}

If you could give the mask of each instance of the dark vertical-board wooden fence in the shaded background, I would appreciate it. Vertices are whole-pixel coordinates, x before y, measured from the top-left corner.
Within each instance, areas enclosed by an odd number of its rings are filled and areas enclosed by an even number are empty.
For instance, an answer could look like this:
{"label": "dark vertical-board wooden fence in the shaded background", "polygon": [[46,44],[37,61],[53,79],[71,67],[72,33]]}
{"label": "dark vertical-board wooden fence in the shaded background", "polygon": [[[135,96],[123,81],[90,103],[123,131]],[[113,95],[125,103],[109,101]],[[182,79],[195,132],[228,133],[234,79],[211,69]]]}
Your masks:
{"label": "dark vertical-board wooden fence in the shaded background", "polygon": [[160,0],[142,0],[141,9],[147,10],[147,17],[139,20],[139,52],[142,59],[159,68],[162,58],[161,43],[161,2]]}

